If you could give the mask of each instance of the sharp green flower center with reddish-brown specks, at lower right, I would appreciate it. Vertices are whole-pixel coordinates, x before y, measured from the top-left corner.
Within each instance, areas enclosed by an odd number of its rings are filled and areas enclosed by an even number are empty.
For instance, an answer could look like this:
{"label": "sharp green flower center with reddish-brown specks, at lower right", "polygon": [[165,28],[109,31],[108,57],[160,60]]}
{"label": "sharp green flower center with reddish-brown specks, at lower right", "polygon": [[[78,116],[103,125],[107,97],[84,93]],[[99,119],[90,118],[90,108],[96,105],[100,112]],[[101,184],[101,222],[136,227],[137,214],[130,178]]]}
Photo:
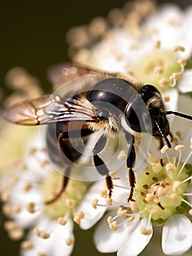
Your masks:
{"label": "sharp green flower center with reddish-brown specks, at lower right", "polygon": [[182,164],[177,167],[174,157],[151,165],[137,178],[137,188],[134,192],[141,212],[141,217],[149,218],[155,225],[160,225],[172,214],[183,213],[188,206],[183,203],[184,193],[188,189],[187,169],[179,175]]}

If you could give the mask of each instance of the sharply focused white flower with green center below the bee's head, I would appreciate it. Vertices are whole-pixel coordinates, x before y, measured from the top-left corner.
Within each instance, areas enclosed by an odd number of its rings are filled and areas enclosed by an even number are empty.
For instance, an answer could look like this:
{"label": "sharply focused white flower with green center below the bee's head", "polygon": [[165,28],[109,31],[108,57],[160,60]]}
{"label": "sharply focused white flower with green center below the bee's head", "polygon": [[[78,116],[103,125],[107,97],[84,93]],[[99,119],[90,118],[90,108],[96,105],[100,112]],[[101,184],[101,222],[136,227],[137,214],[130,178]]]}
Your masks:
{"label": "sharply focused white flower with green center below the bee's head", "polygon": [[[189,97],[181,97],[180,102],[190,106],[192,104]],[[180,125],[177,122],[180,122]],[[174,142],[178,145],[175,148],[172,145],[169,151],[164,147],[160,152],[153,143],[150,149],[153,154],[150,153],[147,162],[136,171],[135,202],[126,203],[128,190],[124,182],[125,174],[120,175],[120,181],[115,181],[115,186],[122,188],[115,187],[113,203],[108,206],[110,211],[107,217],[101,220],[94,235],[99,252],[117,251],[118,256],[139,255],[150,238],[157,236],[156,232],[160,228],[158,226],[161,225],[162,249],[165,255],[183,255],[191,248],[191,122],[181,122],[180,118],[174,118],[172,132],[177,137]],[[118,172],[116,174],[118,175]],[[106,203],[99,200],[96,203],[96,211],[103,208],[101,205],[106,206]],[[154,232],[153,225],[157,225]]]}

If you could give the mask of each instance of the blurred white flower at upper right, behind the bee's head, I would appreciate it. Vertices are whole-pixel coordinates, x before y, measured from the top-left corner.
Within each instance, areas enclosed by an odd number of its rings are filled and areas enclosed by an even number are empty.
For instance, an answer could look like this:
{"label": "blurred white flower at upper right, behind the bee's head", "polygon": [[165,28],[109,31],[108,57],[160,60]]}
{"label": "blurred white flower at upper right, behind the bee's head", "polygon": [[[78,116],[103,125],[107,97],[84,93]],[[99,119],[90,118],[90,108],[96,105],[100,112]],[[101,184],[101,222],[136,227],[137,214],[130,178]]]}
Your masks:
{"label": "blurred white flower at upper right, behind the bee's head", "polygon": [[[153,1],[134,4],[128,1],[127,7],[112,10],[106,20],[94,19],[87,27],[69,30],[67,39],[73,49],[72,60],[99,69],[131,73],[161,90],[175,86],[182,76],[178,89],[192,91],[191,17],[191,6],[181,10],[177,4],[155,7]],[[101,20],[105,27],[96,40],[91,29],[93,23]],[[84,44],[77,38],[80,31],[86,38]]]}

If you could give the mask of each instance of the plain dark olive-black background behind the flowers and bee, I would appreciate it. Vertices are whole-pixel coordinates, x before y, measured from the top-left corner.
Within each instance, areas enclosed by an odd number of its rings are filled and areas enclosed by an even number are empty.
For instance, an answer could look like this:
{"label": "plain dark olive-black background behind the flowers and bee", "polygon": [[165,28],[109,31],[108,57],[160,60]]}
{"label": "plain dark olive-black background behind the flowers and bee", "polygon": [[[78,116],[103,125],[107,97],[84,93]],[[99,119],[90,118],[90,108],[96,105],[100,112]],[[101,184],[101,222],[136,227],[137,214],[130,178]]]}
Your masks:
{"label": "plain dark olive-black background behind the flowers and bee", "polygon": [[[168,1],[158,1],[168,2]],[[185,7],[191,0],[174,1]],[[0,2],[0,88],[4,75],[15,66],[24,67],[39,78],[45,92],[50,91],[46,78],[47,67],[69,61],[66,31],[72,26],[89,23],[96,16],[105,16],[114,7],[123,7],[126,0],[55,0]],[[0,252],[4,256],[17,256],[18,243],[9,241],[3,230],[4,217],[0,216]],[[75,228],[75,233],[79,233]],[[77,255],[101,255],[92,251],[92,233],[76,236]],[[115,254],[113,254],[115,255]]]}

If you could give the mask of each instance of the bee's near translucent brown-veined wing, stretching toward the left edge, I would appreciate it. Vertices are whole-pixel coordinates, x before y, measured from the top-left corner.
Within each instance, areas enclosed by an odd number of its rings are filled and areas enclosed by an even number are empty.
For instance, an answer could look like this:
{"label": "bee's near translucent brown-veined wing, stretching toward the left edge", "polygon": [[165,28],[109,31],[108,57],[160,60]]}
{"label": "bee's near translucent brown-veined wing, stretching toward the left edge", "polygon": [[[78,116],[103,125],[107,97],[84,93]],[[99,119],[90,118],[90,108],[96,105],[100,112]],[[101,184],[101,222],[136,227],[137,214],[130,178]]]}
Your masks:
{"label": "bee's near translucent brown-veined wing, stretching toward the left edge", "polygon": [[15,124],[38,125],[58,121],[92,121],[93,110],[82,105],[78,99],[65,102],[58,95],[47,95],[12,105],[3,117]]}

